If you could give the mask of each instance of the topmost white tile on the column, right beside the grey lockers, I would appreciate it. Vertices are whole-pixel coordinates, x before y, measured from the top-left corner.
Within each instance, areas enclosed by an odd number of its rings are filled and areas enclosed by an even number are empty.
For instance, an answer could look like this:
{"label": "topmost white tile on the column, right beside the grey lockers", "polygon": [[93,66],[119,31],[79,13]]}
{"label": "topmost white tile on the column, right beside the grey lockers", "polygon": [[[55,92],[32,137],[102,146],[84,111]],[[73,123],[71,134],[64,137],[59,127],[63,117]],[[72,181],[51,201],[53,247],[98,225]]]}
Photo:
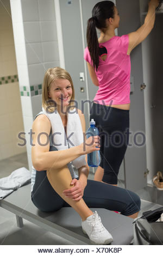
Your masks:
{"label": "topmost white tile on the column, right beside the grey lockers", "polygon": [[41,21],[49,21],[55,19],[54,0],[39,0],[38,4]]}

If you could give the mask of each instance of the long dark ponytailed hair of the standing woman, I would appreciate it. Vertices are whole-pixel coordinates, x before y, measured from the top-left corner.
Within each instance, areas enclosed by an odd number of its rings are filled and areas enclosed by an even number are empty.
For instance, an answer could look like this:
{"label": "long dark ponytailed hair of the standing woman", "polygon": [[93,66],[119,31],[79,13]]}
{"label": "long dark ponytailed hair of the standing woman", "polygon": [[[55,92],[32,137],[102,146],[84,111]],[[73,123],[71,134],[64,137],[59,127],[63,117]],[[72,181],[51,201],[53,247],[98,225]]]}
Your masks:
{"label": "long dark ponytailed hair of the standing woman", "polygon": [[87,47],[89,48],[93,67],[99,66],[99,44],[96,28],[106,28],[106,19],[114,18],[114,3],[111,1],[102,1],[97,3],[92,9],[92,17],[87,21]]}

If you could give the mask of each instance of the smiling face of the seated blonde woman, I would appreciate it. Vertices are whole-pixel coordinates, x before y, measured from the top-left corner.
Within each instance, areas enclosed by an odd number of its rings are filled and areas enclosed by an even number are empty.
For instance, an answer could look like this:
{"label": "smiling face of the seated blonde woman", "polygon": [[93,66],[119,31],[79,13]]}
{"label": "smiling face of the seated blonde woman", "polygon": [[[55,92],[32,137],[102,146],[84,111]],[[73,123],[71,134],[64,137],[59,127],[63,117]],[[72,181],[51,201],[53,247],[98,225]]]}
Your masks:
{"label": "smiling face of the seated blonde woman", "polygon": [[52,82],[49,89],[49,98],[57,103],[57,106],[68,106],[72,97],[71,83],[66,79],[57,79]]}

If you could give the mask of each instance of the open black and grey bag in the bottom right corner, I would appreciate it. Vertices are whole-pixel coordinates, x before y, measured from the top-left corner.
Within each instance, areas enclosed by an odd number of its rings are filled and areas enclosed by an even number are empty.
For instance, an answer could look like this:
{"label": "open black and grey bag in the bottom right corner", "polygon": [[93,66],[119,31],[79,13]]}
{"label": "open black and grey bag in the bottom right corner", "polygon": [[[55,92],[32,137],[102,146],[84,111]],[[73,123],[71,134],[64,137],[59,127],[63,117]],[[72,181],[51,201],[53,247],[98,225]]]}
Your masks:
{"label": "open black and grey bag in the bottom right corner", "polygon": [[163,207],[146,211],[134,221],[133,245],[163,245],[163,222],[156,222],[162,212]]}

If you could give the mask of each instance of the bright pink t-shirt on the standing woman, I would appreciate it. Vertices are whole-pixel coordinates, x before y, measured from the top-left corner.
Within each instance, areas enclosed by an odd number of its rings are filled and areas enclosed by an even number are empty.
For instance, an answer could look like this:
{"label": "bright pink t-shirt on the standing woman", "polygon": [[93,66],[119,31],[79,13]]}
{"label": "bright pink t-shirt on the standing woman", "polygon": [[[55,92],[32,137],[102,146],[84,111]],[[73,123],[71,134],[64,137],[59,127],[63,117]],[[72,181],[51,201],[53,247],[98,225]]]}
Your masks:
{"label": "bright pink t-shirt on the standing woman", "polygon": [[[99,44],[108,52],[106,60],[99,57],[99,88],[94,98],[99,104],[121,105],[130,103],[130,56],[127,55],[129,36],[113,36],[110,40]],[[84,59],[92,65],[88,48],[85,48]]]}

